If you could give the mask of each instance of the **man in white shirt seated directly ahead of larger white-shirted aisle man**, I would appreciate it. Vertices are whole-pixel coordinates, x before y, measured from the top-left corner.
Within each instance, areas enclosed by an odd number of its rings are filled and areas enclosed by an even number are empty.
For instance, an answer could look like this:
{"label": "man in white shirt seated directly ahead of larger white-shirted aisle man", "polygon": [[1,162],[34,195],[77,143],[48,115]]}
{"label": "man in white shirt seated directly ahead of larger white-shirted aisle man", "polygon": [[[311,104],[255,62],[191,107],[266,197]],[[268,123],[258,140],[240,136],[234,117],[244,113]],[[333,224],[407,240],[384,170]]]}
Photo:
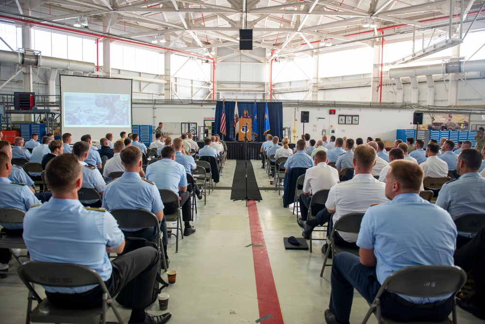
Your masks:
{"label": "man in white shirt seated directly ahead of larger white-shirted aisle man", "polygon": [[[305,229],[305,221],[308,217],[308,209],[313,194],[320,190],[330,189],[339,182],[339,172],[326,163],[327,153],[325,151],[317,151],[313,161],[315,166],[309,168],[305,173],[303,194],[300,194],[298,198],[302,217],[298,218],[297,223],[303,229]],[[323,208],[325,208],[324,204],[313,204],[311,206],[313,215],[316,215]]]}

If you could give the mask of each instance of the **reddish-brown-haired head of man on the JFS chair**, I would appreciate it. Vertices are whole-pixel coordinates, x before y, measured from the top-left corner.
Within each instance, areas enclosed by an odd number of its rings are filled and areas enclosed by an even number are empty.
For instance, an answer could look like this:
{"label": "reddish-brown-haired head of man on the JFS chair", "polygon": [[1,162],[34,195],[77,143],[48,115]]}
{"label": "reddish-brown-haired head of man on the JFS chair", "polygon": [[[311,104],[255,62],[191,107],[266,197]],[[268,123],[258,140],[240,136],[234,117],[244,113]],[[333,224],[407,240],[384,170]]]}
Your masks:
{"label": "reddish-brown-haired head of man on the JFS chair", "polygon": [[419,164],[406,160],[396,160],[390,162],[389,166],[387,182],[396,181],[404,191],[420,191],[424,172]]}

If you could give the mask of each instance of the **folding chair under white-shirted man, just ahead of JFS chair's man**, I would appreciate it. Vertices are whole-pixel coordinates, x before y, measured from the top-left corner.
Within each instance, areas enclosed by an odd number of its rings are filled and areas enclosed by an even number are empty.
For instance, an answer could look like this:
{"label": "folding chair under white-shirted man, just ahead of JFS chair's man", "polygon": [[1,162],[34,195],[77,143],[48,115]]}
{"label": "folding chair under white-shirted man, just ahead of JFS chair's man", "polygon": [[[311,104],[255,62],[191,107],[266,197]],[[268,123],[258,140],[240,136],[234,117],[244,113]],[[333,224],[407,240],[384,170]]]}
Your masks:
{"label": "folding chair under white-shirted man, just ahead of JFS chair's man", "polygon": [[337,222],[335,222],[330,237],[326,238],[328,247],[327,252],[325,253],[325,259],[323,259],[322,271],[320,272],[321,277],[323,277],[323,270],[325,270],[325,265],[327,263],[330,250],[332,250],[332,257],[335,257],[340,252],[350,252],[352,254],[359,255],[358,248],[342,247],[335,244],[334,234],[336,230],[346,233],[358,234],[360,230],[360,223],[362,222],[362,217],[364,217],[363,213],[352,212],[350,214],[343,215],[339,218]]}

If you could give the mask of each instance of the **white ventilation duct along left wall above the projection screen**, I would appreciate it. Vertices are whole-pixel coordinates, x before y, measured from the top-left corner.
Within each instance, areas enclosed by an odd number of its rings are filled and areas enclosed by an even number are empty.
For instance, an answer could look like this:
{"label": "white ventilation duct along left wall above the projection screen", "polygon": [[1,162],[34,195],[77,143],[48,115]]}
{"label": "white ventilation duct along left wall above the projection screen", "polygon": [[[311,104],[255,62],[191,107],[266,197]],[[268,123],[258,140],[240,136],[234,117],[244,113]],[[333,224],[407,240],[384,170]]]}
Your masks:
{"label": "white ventilation duct along left wall above the projection screen", "polygon": [[12,52],[7,50],[0,50],[0,63],[42,66],[59,70],[80,72],[96,71],[96,65],[94,63],[60,59],[57,57],[49,57],[29,53]]}

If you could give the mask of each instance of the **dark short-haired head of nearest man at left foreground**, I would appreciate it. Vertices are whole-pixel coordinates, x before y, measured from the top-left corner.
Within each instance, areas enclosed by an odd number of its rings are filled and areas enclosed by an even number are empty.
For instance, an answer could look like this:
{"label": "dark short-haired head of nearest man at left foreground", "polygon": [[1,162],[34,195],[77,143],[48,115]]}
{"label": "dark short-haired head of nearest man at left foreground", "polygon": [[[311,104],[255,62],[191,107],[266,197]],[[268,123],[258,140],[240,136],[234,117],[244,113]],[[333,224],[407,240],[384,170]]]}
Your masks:
{"label": "dark short-haired head of nearest man at left foreground", "polygon": [[[84,142],[77,143],[87,145]],[[76,186],[76,180],[82,174],[81,164],[74,154],[61,154],[50,160],[44,172],[46,183],[54,194],[73,190]]]}

